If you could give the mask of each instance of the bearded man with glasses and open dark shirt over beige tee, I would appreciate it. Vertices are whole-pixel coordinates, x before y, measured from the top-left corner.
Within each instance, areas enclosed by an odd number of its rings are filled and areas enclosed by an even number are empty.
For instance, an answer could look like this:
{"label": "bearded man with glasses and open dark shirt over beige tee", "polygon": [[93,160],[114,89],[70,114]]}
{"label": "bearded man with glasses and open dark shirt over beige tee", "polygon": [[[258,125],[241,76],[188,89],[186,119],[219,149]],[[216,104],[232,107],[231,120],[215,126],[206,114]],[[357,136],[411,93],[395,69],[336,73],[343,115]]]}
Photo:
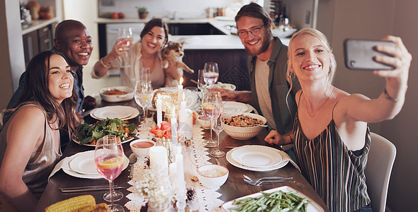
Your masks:
{"label": "bearded man with glasses and open dark shirt over beige tee", "polygon": [[[270,133],[265,141],[272,143],[278,134],[289,140],[293,119],[297,110],[295,93],[300,89],[297,78],[293,87],[286,80],[288,47],[271,33],[272,20],[259,4],[242,6],[235,16],[239,38],[249,54],[249,90],[229,91],[217,89],[222,100],[252,104],[266,117]],[[290,92],[288,92],[290,90]],[[284,147],[284,148],[291,148]],[[293,157],[293,149],[287,151]]]}

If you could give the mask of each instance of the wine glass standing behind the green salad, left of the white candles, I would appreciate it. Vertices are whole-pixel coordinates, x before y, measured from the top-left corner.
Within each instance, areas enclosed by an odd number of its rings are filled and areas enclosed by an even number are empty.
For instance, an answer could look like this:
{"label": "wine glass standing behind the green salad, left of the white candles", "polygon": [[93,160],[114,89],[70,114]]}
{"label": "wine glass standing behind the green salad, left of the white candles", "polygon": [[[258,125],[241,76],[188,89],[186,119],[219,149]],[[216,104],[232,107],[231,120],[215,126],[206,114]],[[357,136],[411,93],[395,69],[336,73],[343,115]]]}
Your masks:
{"label": "wine glass standing behind the green salad, left of the white candles", "polygon": [[[152,100],[153,90],[151,81],[140,80],[135,82],[135,102],[137,102],[144,112],[144,125],[147,126],[147,107]],[[141,123],[141,117],[139,119]]]}

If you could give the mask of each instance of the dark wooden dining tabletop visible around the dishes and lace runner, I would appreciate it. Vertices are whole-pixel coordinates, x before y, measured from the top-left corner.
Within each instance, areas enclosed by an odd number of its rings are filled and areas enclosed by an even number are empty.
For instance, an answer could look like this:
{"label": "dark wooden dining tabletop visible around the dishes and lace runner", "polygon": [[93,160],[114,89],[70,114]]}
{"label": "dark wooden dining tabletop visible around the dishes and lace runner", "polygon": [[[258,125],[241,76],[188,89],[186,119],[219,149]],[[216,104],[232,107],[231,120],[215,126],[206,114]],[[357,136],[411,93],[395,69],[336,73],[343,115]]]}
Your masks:
{"label": "dark wooden dining tabletop visible around the dishes and lace runner", "polygon": [[[98,104],[100,107],[108,106],[108,105],[130,105],[132,107],[137,107],[135,104],[135,100],[130,100],[126,102],[105,102],[101,101]],[[140,108],[138,108],[140,110]],[[84,117],[84,120],[86,123],[93,123],[96,122],[96,119],[93,119],[89,115]],[[138,124],[137,117],[134,119],[128,120],[129,122],[133,122],[135,124]],[[197,123],[194,124],[193,127],[200,127]],[[209,130],[205,129],[205,136],[206,138],[209,138]],[[268,134],[268,131],[266,129],[263,129],[259,135],[255,136],[252,139],[248,140],[237,140],[232,139],[232,137],[228,136],[225,131],[222,131],[220,133],[220,150],[230,151],[234,147],[244,146],[244,145],[261,145],[261,146],[271,146],[269,143],[266,143],[264,141],[264,137]],[[278,146],[271,146],[273,148],[278,148]],[[94,147],[91,146],[81,146],[78,143],[75,143],[73,141],[69,141],[67,144],[67,147],[65,148],[62,158],[69,157],[71,155],[74,155],[79,152],[83,151],[91,151],[94,150]],[[123,143],[123,150],[127,157],[132,153],[129,142]],[[210,151],[211,148],[208,149]],[[320,196],[317,195],[315,190],[310,186],[310,184],[306,181],[305,177],[290,163],[288,163],[286,166],[281,167],[278,170],[272,170],[269,172],[254,172],[250,170],[244,170],[239,167],[235,167],[234,165],[231,165],[228,163],[227,159],[225,157],[218,158],[216,160],[215,158],[210,158],[210,163],[218,163],[218,165],[222,165],[227,167],[229,170],[229,176],[227,178],[227,181],[225,184],[223,184],[220,189],[217,190],[222,196],[219,197],[222,201],[231,201],[233,199],[237,199],[241,196],[246,196],[249,194],[254,194],[256,192],[264,191],[266,189],[273,189],[276,187],[282,187],[282,186],[288,186],[292,187],[293,189],[298,190],[299,192],[305,194],[307,197],[309,197],[312,201],[315,201],[324,211],[329,211],[327,209],[326,204],[324,204],[324,201],[320,198]],[[124,197],[120,201],[116,201],[115,204],[120,204],[121,206],[124,206],[129,199],[126,198],[130,192],[127,190],[129,187],[131,187],[130,184],[128,184],[128,181],[130,181],[129,173],[130,169],[126,168],[123,170],[123,172],[119,175],[118,178],[114,180],[114,184],[118,185],[120,187],[125,187],[125,189],[118,189],[118,191],[122,192]],[[244,182],[243,175],[247,175],[249,177],[269,177],[269,176],[292,176],[295,182],[280,182],[280,183],[266,183],[262,184],[261,186],[252,186],[250,184],[247,184],[247,182]],[[62,170],[58,171],[50,177],[50,180],[47,184],[47,187],[45,189],[45,192],[43,192],[42,196],[40,196],[40,200],[38,202],[38,206],[35,209],[35,211],[44,211],[44,209],[47,206],[50,206],[51,204],[55,204],[58,201],[62,201],[64,199],[69,199],[74,196],[84,195],[84,194],[91,194],[96,199],[96,204],[106,202],[103,200],[103,194],[105,192],[108,192],[107,190],[101,190],[101,191],[89,191],[89,192],[73,192],[73,193],[62,193],[60,192],[60,188],[67,188],[67,187],[86,187],[86,186],[93,186],[93,185],[108,185],[108,181],[106,179],[83,179],[83,178],[77,178],[72,177],[70,175],[67,175]],[[107,203],[107,202],[106,202]],[[129,211],[128,208],[125,207],[125,211]]]}

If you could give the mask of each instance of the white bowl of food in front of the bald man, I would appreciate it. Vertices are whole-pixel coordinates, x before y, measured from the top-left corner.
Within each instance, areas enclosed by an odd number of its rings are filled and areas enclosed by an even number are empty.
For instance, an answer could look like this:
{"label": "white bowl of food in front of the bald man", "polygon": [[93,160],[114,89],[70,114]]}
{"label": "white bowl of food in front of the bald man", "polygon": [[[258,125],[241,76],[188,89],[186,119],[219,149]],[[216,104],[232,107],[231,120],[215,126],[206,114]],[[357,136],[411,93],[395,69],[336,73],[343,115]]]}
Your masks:
{"label": "white bowl of food in front of the bald man", "polygon": [[132,100],[134,96],[134,90],[126,86],[115,86],[108,88],[101,88],[98,90],[102,100],[106,102],[123,102]]}

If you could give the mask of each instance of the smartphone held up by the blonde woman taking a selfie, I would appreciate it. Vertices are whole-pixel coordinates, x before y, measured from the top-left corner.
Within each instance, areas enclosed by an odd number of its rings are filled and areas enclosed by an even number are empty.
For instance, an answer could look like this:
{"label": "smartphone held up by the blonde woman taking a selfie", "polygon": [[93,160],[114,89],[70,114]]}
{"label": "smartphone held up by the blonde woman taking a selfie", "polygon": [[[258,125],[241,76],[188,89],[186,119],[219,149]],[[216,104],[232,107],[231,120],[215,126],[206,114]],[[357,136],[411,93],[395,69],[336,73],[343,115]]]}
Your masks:
{"label": "smartphone held up by the blonde woman taking a selfie", "polygon": [[377,55],[388,54],[375,50],[377,45],[388,45],[395,47],[390,41],[383,40],[360,40],[346,39],[344,40],[344,59],[347,69],[354,70],[393,70],[395,67],[382,64],[374,60]]}

